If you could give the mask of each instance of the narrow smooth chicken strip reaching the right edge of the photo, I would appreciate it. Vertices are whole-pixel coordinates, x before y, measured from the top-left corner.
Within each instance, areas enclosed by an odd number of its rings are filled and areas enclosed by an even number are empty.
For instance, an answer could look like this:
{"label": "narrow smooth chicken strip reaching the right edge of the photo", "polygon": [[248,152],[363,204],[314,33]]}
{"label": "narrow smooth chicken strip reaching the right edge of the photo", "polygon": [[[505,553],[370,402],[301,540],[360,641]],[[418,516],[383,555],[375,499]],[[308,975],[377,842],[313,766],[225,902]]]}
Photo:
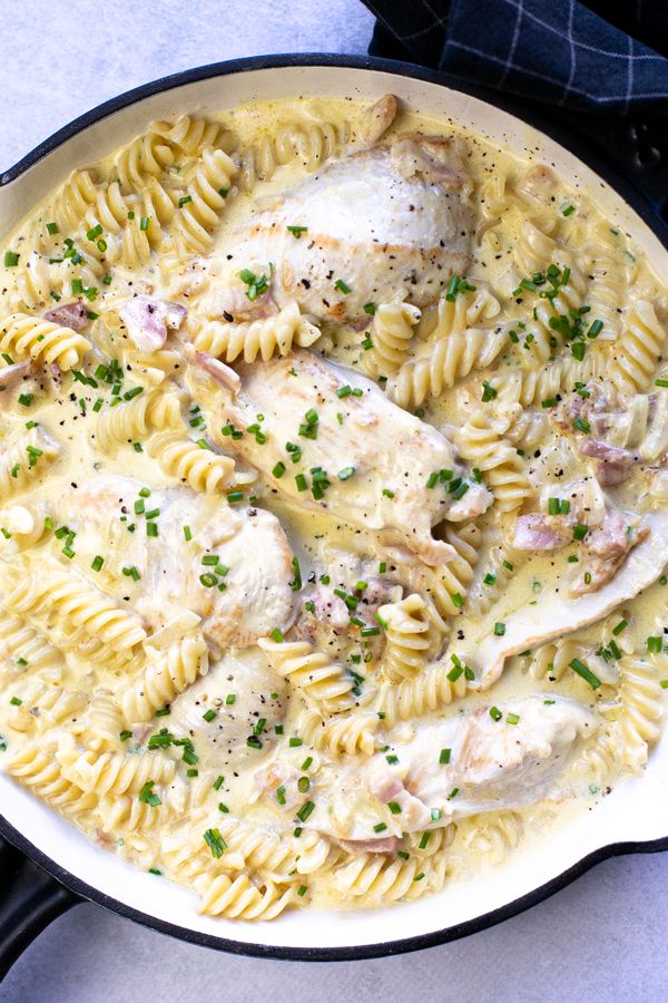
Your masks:
{"label": "narrow smooth chicken strip reaching the right edge of the photo", "polygon": [[[505,659],[602,620],[651,585],[668,563],[668,513],[645,516],[642,527],[648,530],[645,538],[630,551],[612,581],[598,592],[568,600],[562,592],[543,588],[536,605],[524,605],[504,619],[501,636],[488,626],[487,635],[471,639],[470,651],[462,652],[462,646],[458,646],[462,660],[480,666],[480,689],[489,689],[499,679]],[[641,538],[639,533],[637,538]]]}

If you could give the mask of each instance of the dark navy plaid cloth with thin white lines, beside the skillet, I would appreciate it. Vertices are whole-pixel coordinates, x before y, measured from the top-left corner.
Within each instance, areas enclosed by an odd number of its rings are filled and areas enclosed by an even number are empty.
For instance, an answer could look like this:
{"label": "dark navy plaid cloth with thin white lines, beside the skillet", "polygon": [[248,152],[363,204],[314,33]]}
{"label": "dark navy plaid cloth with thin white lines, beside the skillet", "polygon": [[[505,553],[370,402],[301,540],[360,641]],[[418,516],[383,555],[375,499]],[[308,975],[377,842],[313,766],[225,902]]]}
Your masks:
{"label": "dark navy plaid cloth with thin white lines, beside the skillet", "polygon": [[584,111],[668,117],[668,0],[364,0],[372,56]]}

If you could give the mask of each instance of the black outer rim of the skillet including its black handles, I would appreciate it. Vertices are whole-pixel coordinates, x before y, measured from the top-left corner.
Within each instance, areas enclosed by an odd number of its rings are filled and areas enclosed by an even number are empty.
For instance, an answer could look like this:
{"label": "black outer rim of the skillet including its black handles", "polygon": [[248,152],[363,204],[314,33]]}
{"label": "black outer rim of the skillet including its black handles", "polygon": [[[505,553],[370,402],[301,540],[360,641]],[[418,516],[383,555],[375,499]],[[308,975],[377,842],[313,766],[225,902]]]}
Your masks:
{"label": "black outer rim of the skillet including its black handles", "polygon": [[[668,134],[642,113],[633,113],[625,118],[595,117],[573,113],[567,115],[561,109],[539,108],[529,101],[520,103],[518,99],[507,99],[497,91],[474,87],[444,74],[409,62],[371,57],[322,53],[261,56],[217,62],[164,77],[105,101],[59,129],[18,164],[0,175],[0,186],[16,181],[29,167],[88,126],[151,95],[168,91],[184,84],[230,74],[276,67],[284,67],[286,71],[289,71],[291,68],[310,66],[370,69],[400,77],[413,77],[430,84],[443,84],[453,90],[463,91],[515,115],[551,136],[587,163],[626,198],[638,215],[654,230],[659,240],[668,246]],[[340,948],[263,947],[257,944],[243,944],[222,937],[212,937],[197,931],[175,926],[109,898],[59,867],[0,815],[0,978],[49,923],[84,900],[96,902],[160,933],[235,954],[293,961],[354,961],[419,951],[487,929],[548,898],[600,860],[621,854],[656,853],[666,849],[668,849],[668,835],[650,841],[616,843],[602,847],[558,877],[500,909],[444,931],[404,938],[401,942],[391,941],[382,944]]]}

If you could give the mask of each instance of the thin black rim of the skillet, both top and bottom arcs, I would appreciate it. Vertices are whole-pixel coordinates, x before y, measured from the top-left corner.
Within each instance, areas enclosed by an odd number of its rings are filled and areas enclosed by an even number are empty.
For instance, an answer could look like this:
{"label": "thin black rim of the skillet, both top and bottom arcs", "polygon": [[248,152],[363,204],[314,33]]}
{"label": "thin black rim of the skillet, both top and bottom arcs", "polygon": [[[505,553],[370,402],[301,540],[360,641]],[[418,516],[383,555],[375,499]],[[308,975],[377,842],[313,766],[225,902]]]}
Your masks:
{"label": "thin black rim of the skillet, both top and bottom arcs", "polygon": [[[253,56],[245,59],[234,59],[226,62],[215,62],[209,66],[196,67],[195,69],[184,70],[154,80],[128,90],[118,97],[111,98],[97,108],[87,111],[79,118],[76,118],[69,125],[53,133],[43,143],[40,143],[31,153],[27,154],[18,164],[9,171],[0,175],[0,186],[11,184],[24,174],[30,167],[37,164],[49,153],[61,146],[68,139],[71,139],[78,133],[89,126],[101,121],[116,111],[120,111],[132,104],[141,101],[144,98],[154,94],[173,90],[185,84],[191,84],[197,80],[204,80],[210,77],[224,77],[229,74],[248,72],[257,69],[289,69],[292,67],[310,67],[310,66],[327,66],[341,67],[344,69],[366,69],[381,72],[394,74],[400,77],[413,77],[426,82],[444,85],[453,90],[460,90],[472,97],[494,105],[511,115],[515,115],[523,121],[532,125],[534,128],[546,133],[552,139],[561,144],[566,149],[570,150],[574,156],[579,157],[601,178],[603,178],[612,188],[615,188],[626,201],[632,206],[638,215],[649,225],[659,240],[668,246],[668,226],[658,216],[646,196],[628,179],[620,176],[613,171],[608,163],[595,154],[584,143],[576,139],[560,126],[550,120],[549,109],[537,111],[522,107],[517,101],[505,98],[497,91],[485,90],[483,88],[470,86],[463,81],[439,74],[434,70],[425,69],[409,62],[399,62],[390,59],[377,59],[367,56],[343,56],[336,53],[288,53],[277,56]],[[158,933],[167,934],[197,944],[203,947],[212,947],[217,951],[225,951],[230,954],[246,955],[250,957],[278,958],[283,961],[314,961],[314,962],[333,962],[333,961],[362,961],[374,957],[385,957],[393,954],[405,954],[412,951],[422,951],[428,947],[434,947],[440,944],[446,944],[461,937],[470,936],[483,929],[489,929],[504,919],[518,916],[525,909],[544,902],[556,892],[561,890],[576,878],[586,874],[596,864],[606,860],[609,857],[621,856],[622,854],[642,854],[659,853],[668,850],[668,836],[659,839],[647,841],[629,841],[613,843],[608,846],[600,847],[588,856],[583,857],[572,867],[562,871],[562,874],[547,882],[527,895],[508,903],[499,909],[485,913],[475,919],[455,926],[444,927],[431,934],[422,934],[414,937],[405,937],[401,941],[387,941],[381,944],[362,945],[358,947],[277,947],[266,946],[262,944],[245,944],[239,941],[230,941],[225,937],[217,937],[210,934],[203,934],[198,931],[187,929],[186,927],[176,926],[141,913],[138,909],[130,908],[125,903],[118,902],[108,895],[102,894],[97,888],[82,882],[76,875],[70,874],[60,867],[41,849],[31,844],[18,829],[11,826],[7,819],[0,815],[0,835],[11,843],[17,849],[20,849],[28,857],[35,860],[48,874],[65,885],[81,898],[95,902],[111,912],[118,913],[128,919],[140,923]]]}

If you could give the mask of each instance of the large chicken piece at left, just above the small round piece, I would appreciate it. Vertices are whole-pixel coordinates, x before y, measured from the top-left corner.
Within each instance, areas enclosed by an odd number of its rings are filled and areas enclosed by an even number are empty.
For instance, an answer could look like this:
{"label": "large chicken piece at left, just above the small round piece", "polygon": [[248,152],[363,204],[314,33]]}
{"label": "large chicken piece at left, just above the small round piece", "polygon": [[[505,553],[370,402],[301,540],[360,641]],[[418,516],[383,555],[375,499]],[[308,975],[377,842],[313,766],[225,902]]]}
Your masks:
{"label": "large chicken piece at left, just above the small round piece", "polygon": [[[127,597],[154,630],[191,610],[203,617],[205,636],[222,647],[245,647],[276,626],[288,626],[292,552],[275,516],[233,510],[186,488],[153,488],[144,498],[143,487],[107,476],[60,498],[56,517],[76,532],[81,566],[90,566],[97,554],[108,555],[96,585],[124,602]],[[136,514],[135,503],[145,513],[159,509],[157,537],[147,536],[146,515]],[[135,532],[128,532],[132,525]],[[214,555],[218,564],[202,563]],[[136,581],[128,568],[136,568]]]}

